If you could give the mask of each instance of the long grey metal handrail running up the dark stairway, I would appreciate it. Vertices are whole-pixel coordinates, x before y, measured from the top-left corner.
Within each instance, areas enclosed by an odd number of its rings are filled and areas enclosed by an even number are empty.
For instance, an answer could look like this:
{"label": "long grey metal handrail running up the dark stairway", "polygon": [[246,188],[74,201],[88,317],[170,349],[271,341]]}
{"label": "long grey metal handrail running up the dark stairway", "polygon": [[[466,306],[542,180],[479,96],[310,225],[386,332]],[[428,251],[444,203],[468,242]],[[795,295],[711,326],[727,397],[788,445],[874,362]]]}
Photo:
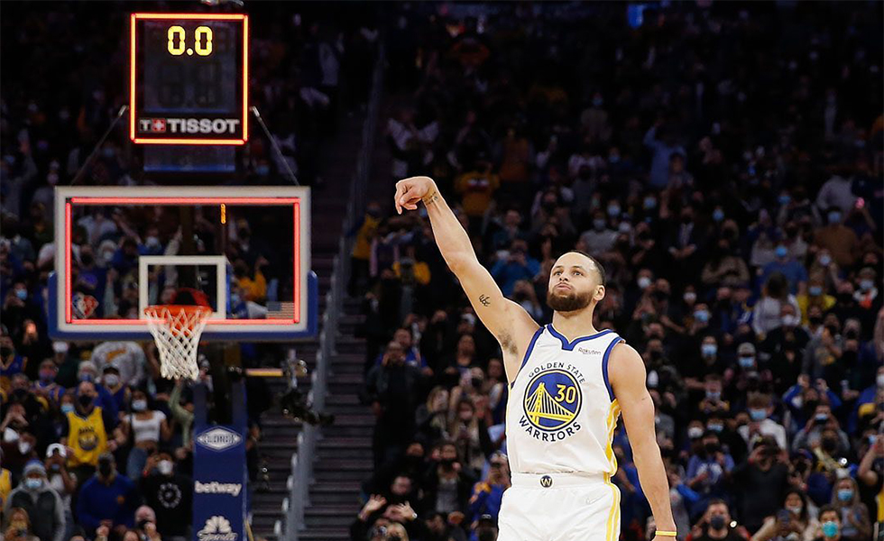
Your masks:
{"label": "long grey metal handrail running up the dark stairway", "polygon": [[[332,261],[331,282],[326,293],[326,311],[322,315],[322,331],[319,333],[316,368],[311,374],[308,402],[314,409],[322,411],[326,405],[328,375],[331,359],[336,353],[336,338],[340,314],[344,308],[344,296],[350,280],[350,251],[355,241],[349,235],[365,212],[364,193],[368,183],[368,173],[374,151],[375,134],[377,133],[378,115],[381,109],[381,92],[385,47],[381,40],[378,44],[372,76],[372,88],[368,100],[367,113],[363,124],[362,148],[356,161],[356,172],[350,183],[350,194],[344,216],[344,228],[335,259]],[[319,430],[316,426],[305,424],[298,435],[298,450],[291,457],[291,483],[288,486],[288,507],[283,507],[282,516],[285,526],[282,528],[285,541],[299,541],[299,534],[305,529],[304,509],[309,505],[309,486],[313,481],[313,462],[316,457],[316,445]]]}

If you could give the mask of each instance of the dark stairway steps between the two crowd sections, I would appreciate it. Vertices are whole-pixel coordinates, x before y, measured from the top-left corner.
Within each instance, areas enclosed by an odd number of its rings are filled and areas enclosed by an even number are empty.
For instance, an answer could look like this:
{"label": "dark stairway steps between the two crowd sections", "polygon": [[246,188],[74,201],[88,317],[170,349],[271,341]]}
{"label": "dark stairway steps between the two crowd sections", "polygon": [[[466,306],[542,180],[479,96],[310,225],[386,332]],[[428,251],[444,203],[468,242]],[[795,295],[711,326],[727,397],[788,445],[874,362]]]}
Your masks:
{"label": "dark stairway steps between the two crowd sections", "polygon": [[[319,313],[322,314],[326,310],[326,293],[331,283],[332,264],[337,252],[337,243],[342,234],[341,227],[343,225],[344,214],[346,209],[346,201],[341,194],[349,191],[349,183],[355,170],[355,162],[357,152],[360,150],[362,125],[364,123],[364,115],[356,114],[352,116],[342,116],[341,126],[337,133],[336,139],[330,142],[323,156],[320,158],[319,171],[325,185],[322,188],[313,189],[312,197],[312,223],[311,223],[311,267],[317,273],[319,282]],[[353,307],[352,303],[345,304],[345,310],[348,313],[355,313],[358,307]],[[321,322],[320,322],[321,325]],[[355,326],[352,317],[343,317],[341,321],[341,329],[344,333],[353,333]],[[321,328],[320,328],[321,330]],[[317,342],[309,342],[305,344],[296,344],[296,353],[299,359],[307,362],[308,369],[313,371],[316,367]],[[342,357],[347,359],[349,356],[358,356],[359,345],[352,336],[344,335],[338,342],[338,351],[342,353]],[[318,444],[318,468],[316,470],[316,482],[311,490],[311,501],[315,504],[314,508],[309,509],[306,520],[308,527],[316,522],[323,525],[323,529],[319,530],[318,536],[314,539],[336,539],[346,538],[339,536],[326,536],[324,518],[334,515],[336,509],[340,507],[340,513],[346,518],[346,524],[355,516],[358,509],[355,509],[356,493],[350,489],[353,482],[344,481],[349,479],[346,475],[340,475],[341,482],[338,481],[336,475],[340,472],[352,472],[354,464],[361,464],[358,460],[349,466],[344,465],[338,467],[335,462],[331,466],[327,466],[322,458],[328,457],[334,460],[338,457],[338,461],[350,462],[346,458],[347,454],[340,451],[343,445],[346,449],[362,449],[358,443],[349,442],[344,435],[352,435],[347,437],[364,436],[367,438],[365,445],[370,445],[371,432],[369,428],[360,428],[358,425],[364,423],[364,419],[358,415],[355,416],[355,408],[360,408],[360,413],[367,412],[364,407],[354,406],[356,404],[356,392],[362,382],[361,362],[364,357],[359,357],[360,371],[351,373],[346,362],[337,362],[333,364],[332,370],[334,376],[329,382],[330,394],[327,399],[327,409],[336,414],[335,426],[327,429],[327,436]],[[340,368],[338,365],[341,364]],[[359,378],[359,382],[352,382],[355,378]],[[270,390],[274,396],[279,396],[286,390],[285,381],[268,381]],[[310,385],[309,374],[298,379],[299,390],[307,392]],[[347,390],[353,390],[352,393]],[[355,416],[355,417],[354,417]],[[283,417],[278,405],[274,405],[262,414],[262,440],[259,444],[259,454],[262,464],[266,467],[266,480],[262,481],[262,472],[259,471],[258,480],[253,483],[252,497],[252,530],[253,536],[257,540],[259,537],[268,541],[277,539],[274,533],[274,526],[282,516],[282,500],[289,495],[286,487],[286,481],[291,474],[291,457],[298,451],[297,438],[301,429],[299,422],[290,418]],[[340,438],[344,437],[342,441]],[[351,445],[353,444],[353,445]],[[337,447],[336,447],[337,445]],[[370,447],[365,450],[370,451]],[[370,452],[369,454],[370,455]],[[371,464],[366,464],[370,467]],[[323,469],[325,468],[325,469]],[[349,470],[348,470],[349,468]],[[359,473],[362,475],[362,473]],[[354,477],[353,479],[356,479]],[[361,480],[361,477],[358,478]],[[355,481],[358,485],[358,481]],[[340,501],[330,500],[324,497],[329,494],[332,497],[336,493],[345,493],[348,498]],[[331,508],[323,507],[323,501],[333,502]],[[355,510],[352,510],[355,509]],[[351,512],[352,511],[352,512]],[[310,514],[314,513],[314,514]],[[318,519],[314,517],[319,517]],[[313,522],[311,522],[313,521]],[[347,528],[341,529],[347,532]],[[309,538],[309,537],[302,537]]]}

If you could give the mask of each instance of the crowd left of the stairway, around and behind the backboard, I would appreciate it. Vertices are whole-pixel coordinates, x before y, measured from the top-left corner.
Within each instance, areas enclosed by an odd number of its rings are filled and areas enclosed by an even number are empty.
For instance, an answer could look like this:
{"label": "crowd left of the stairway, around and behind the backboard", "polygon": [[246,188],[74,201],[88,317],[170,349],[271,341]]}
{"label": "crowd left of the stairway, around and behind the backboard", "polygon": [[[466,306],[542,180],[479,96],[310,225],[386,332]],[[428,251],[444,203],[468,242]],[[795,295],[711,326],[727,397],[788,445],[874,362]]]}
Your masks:
{"label": "crowd left of the stairway, around and behind the backboard", "polygon": [[[48,335],[47,280],[60,226],[54,224],[53,188],[78,177],[127,101],[121,44],[130,10],[125,3],[3,6],[0,539],[6,541],[191,538],[191,389],[160,377],[152,343],[69,343]],[[253,105],[302,183],[317,180],[318,145],[334,132],[338,112],[366,99],[377,33],[368,27],[371,18],[359,13],[332,18],[321,6],[296,11],[280,3],[250,11],[253,55],[262,60],[254,63]],[[285,182],[268,141],[253,135],[243,152],[243,180]],[[151,185],[155,179],[142,166],[141,154],[118,129],[98,147],[78,184]],[[74,217],[76,316],[137,316],[136,257],[175,253],[182,243],[177,217],[131,207],[97,207]],[[198,251],[218,245],[217,228],[206,224],[197,213]],[[265,242],[269,232],[260,215],[232,216],[229,224],[229,308],[251,316],[249,303],[275,296],[274,267],[290,265],[274,261],[279,251]],[[152,299],[169,302],[175,285],[167,280]],[[241,344],[241,350],[244,362],[281,358],[280,347]],[[210,381],[207,366],[201,368],[201,378]],[[258,416],[268,406],[260,395],[249,400],[253,481],[259,475]]]}

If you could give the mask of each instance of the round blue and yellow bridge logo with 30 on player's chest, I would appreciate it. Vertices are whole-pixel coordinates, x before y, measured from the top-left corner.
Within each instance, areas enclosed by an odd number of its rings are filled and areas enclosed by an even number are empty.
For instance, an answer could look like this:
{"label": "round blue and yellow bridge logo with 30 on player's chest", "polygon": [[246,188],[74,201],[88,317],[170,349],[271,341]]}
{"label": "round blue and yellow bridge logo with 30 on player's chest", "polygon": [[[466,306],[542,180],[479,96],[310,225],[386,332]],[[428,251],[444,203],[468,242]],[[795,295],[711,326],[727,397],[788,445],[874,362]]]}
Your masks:
{"label": "round blue and yellow bridge logo with 30 on player's chest", "polygon": [[575,419],[582,403],[583,392],[571,373],[540,371],[525,390],[520,426],[541,441],[563,440],[580,429]]}

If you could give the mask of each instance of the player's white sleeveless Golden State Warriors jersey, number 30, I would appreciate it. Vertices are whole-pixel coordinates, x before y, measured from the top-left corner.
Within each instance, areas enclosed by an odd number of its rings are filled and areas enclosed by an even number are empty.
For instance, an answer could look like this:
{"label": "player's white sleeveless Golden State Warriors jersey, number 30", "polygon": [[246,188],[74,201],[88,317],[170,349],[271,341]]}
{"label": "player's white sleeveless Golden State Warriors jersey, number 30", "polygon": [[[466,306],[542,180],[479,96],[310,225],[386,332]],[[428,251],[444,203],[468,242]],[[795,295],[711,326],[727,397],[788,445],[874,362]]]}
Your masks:
{"label": "player's white sleeveless Golden State Warriors jersey, number 30", "polygon": [[511,472],[617,472],[611,442],[620,407],[607,365],[621,341],[611,330],[568,342],[552,325],[539,328],[507,402]]}

